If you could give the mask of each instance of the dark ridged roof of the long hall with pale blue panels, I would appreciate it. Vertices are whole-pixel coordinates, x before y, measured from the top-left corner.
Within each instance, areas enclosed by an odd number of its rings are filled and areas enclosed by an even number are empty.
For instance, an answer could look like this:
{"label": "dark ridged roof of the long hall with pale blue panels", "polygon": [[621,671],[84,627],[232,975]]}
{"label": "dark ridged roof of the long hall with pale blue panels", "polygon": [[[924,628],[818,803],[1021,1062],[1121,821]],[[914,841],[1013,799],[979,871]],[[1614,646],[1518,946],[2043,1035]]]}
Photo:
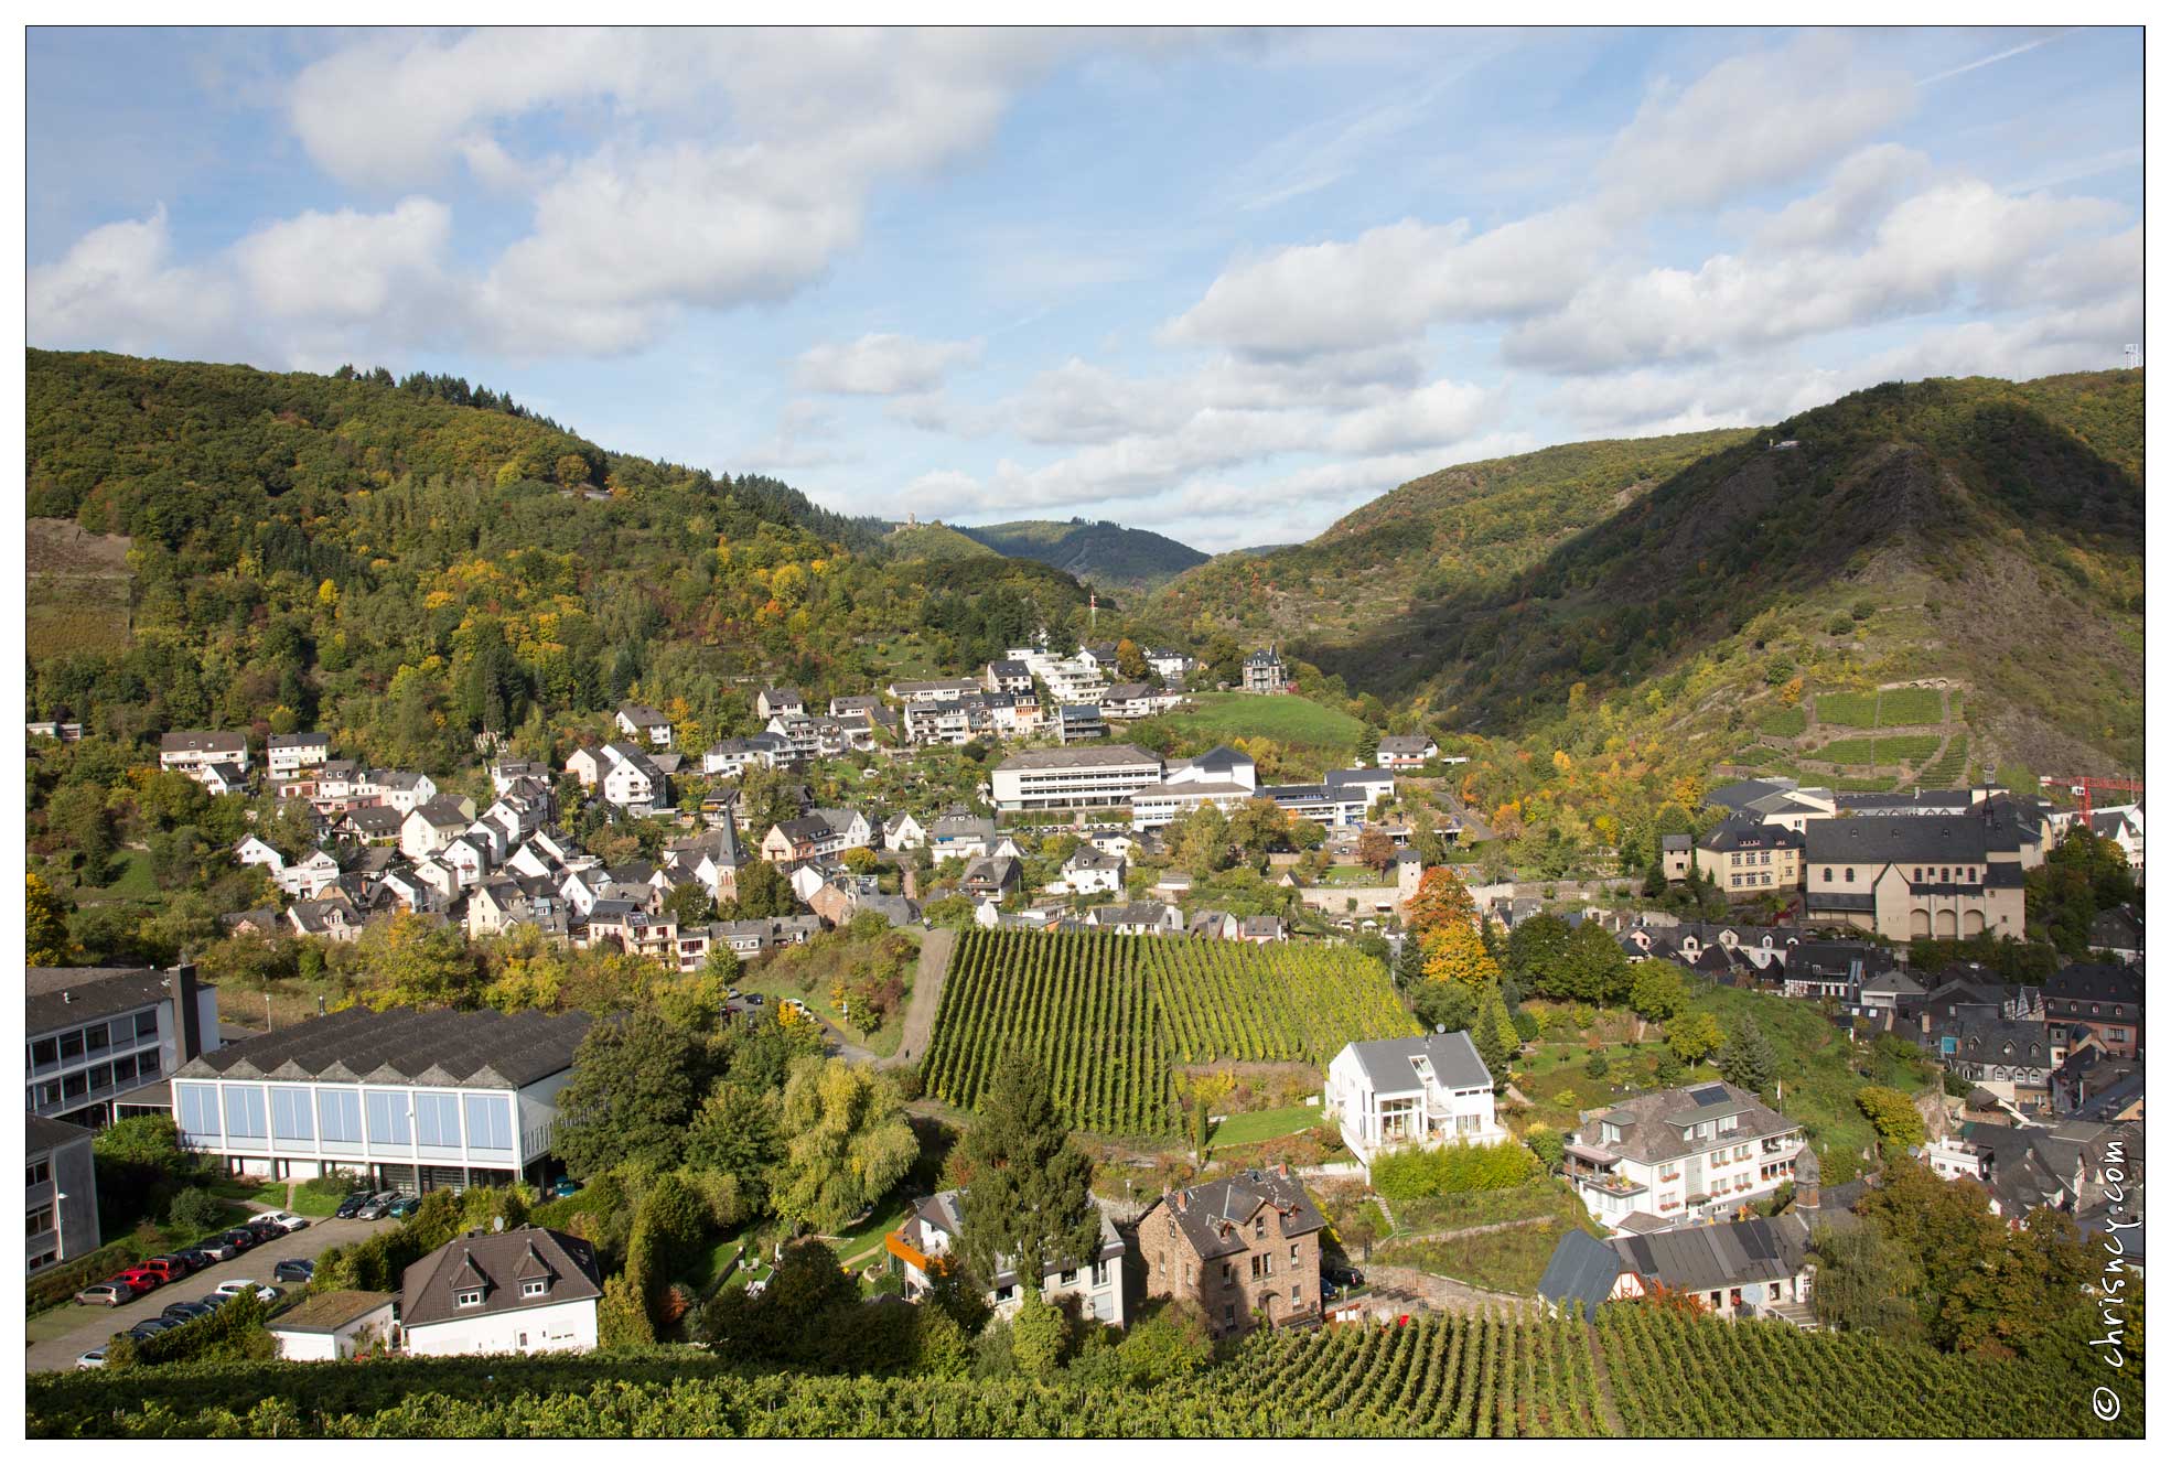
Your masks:
{"label": "dark ridged roof of the long hall with pale blue panels", "polygon": [[189,1059],[176,1079],[317,1079],[515,1090],[573,1066],[588,1014],[347,1007]]}

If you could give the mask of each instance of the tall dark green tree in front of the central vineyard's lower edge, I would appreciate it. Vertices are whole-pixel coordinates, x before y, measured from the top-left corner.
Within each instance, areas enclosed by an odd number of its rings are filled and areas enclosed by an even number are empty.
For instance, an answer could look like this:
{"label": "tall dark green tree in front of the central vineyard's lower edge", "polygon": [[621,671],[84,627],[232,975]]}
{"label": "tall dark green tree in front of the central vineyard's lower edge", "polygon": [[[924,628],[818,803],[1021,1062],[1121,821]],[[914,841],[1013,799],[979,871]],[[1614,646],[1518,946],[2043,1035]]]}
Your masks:
{"label": "tall dark green tree in front of the central vineyard's lower edge", "polygon": [[1092,1159],[1070,1144],[1040,1061],[1012,1048],[979,1113],[957,1142],[960,1168],[973,1176],[960,1200],[960,1246],[973,1270],[994,1276],[1007,1259],[1036,1291],[1046,1263],[1090,1265],[1101,1250]]}

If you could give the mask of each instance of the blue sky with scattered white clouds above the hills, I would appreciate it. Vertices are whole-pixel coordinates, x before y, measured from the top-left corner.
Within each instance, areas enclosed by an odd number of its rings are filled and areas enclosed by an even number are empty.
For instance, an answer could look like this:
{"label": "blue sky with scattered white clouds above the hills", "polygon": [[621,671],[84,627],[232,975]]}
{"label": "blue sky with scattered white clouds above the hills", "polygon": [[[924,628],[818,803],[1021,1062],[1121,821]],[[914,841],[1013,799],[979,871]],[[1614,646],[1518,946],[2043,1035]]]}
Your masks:
{"label": "blue sky with scattered white clouds above the hills", "polygon": [[2138,28],[33,28],[28,336],[1222,551],[2119,367],[2141,115]]}

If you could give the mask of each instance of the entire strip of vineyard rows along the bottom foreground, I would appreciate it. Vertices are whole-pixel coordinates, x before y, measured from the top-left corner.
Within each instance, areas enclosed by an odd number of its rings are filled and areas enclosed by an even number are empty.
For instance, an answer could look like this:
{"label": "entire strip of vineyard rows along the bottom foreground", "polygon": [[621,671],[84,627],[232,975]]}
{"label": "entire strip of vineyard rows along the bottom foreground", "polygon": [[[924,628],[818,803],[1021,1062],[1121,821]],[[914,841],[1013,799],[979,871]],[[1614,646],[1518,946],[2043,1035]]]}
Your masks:
{"label": "entire strip of vineyard rows along the bottom foreground", "polygon": [[[1654,1307],[1585,1324],[1420,1313],[1246,1339],[1153,1387],[1103,1378],[760,1374],[695,1348],[599,1354],[176,1363],[30,1374],[30,1439],[347,1437],[2138,1437],[2138,1378],[2117,1424],[2091,1415],[2084,1363],[1976,1363],[1778,1322]],[[2089,1337],[2080,1333],[2078,1337]]]}

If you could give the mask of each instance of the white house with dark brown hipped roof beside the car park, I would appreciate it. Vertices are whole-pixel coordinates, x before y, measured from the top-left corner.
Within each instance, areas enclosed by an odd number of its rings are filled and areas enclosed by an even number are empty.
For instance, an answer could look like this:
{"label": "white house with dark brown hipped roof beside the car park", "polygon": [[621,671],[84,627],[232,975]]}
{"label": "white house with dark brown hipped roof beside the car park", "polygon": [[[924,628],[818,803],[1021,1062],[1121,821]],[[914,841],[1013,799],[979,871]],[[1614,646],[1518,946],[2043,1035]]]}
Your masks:
{"label": "white house with dark brown hipped roof beside the car park", "polygon": [[595,1248],[549,1226],[469,1231],[399,1278],[410,1356],[588,1352],[604,1272]]}

